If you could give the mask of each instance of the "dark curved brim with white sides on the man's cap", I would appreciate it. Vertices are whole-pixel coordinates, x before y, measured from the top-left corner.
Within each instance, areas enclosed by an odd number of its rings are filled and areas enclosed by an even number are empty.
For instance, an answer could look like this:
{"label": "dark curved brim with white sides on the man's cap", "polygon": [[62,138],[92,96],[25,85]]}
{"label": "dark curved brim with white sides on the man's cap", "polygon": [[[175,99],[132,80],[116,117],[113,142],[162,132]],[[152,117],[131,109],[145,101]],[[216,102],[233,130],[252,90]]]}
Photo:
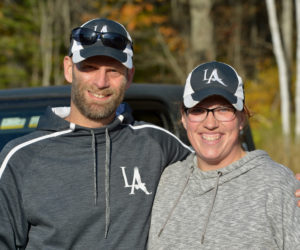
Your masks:
{"label": "dark curved brim with white sides on the man's cap", "polygon": [[114,58],[129,69],[131,69],[133,66],[131,56],[124,53],[123,51],[106,46],[91,46],[89,48],[74,51],[72,55],[72,60],[74,63],[79,63],[93,56],[108,56]]}

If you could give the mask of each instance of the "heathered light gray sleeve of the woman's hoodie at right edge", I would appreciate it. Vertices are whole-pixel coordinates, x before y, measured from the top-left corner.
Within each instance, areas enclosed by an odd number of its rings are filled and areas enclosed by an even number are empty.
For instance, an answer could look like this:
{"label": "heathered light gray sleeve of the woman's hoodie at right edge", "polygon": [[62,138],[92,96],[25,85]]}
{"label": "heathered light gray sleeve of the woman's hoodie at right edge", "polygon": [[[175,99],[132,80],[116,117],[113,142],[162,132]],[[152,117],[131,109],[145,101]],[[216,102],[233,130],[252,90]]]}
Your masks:
{"label": "heathered light gray sleeve of the woman's hoodie at right edge", "polygon": [[288,174],[268,194],[267,213],[279,249],[300,249],[300,208],[294,195],[299,184]]}

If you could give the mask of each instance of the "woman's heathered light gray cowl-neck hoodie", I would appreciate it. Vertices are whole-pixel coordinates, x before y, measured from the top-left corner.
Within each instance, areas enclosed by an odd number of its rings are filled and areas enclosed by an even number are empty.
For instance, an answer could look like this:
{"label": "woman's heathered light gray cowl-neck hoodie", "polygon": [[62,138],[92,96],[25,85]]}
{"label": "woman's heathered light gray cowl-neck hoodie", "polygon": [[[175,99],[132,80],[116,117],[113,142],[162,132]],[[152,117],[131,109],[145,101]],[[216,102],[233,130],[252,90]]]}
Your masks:
{"label": "woman's heathered light gray cowl-neck hoodie", "polygon": [[196,161],[192,154],[164,171],[149,249],[300,249],[298,182],[289,169],[262,150],[216,171]]}

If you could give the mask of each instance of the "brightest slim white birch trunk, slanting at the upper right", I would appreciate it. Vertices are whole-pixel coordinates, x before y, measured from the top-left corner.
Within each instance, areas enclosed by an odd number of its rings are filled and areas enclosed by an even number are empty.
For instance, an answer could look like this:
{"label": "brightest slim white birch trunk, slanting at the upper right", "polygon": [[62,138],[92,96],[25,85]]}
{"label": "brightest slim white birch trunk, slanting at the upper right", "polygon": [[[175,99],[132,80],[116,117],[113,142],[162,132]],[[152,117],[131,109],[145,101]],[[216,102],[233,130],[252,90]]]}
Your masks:
{"label": "brightest slim white birch trunk, slanting at the upper right", "polygon": [[273,52],[279,70],[279,85],[281,97],[281,122],[285,146],[290,143],[290,98],[288,91],[288,67],[284,55],[282,41],[280,39],[280,31],[278,19],[276,15],[276,6],[274,0],[266,0],[269,25],[272,34]]}

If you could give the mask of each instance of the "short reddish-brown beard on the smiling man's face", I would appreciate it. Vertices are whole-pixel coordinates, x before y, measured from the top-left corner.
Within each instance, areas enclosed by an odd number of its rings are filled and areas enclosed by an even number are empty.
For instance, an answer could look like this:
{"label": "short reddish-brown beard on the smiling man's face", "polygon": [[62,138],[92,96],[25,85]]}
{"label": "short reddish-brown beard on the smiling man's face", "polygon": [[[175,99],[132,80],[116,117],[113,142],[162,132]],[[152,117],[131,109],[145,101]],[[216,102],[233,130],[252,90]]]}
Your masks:
{"label": "short reddish-brown beard on the smiling man's face", "polygon": [[100,121],[111,117],[116,112],[117,107],[124,99],[125,85],[125,83],[120,83],[120,88],[118,90],[110,88],[101,91],[98,89],[95,90],[95,93],[100,92],[104,95],[111,95],[109,102],[99,104],[96,101],[86,100],[84,94],[86,92],[86,87],[84,83],[80,84],[74,79],[72,83],[71,98],[82,115],[90,120]]}

